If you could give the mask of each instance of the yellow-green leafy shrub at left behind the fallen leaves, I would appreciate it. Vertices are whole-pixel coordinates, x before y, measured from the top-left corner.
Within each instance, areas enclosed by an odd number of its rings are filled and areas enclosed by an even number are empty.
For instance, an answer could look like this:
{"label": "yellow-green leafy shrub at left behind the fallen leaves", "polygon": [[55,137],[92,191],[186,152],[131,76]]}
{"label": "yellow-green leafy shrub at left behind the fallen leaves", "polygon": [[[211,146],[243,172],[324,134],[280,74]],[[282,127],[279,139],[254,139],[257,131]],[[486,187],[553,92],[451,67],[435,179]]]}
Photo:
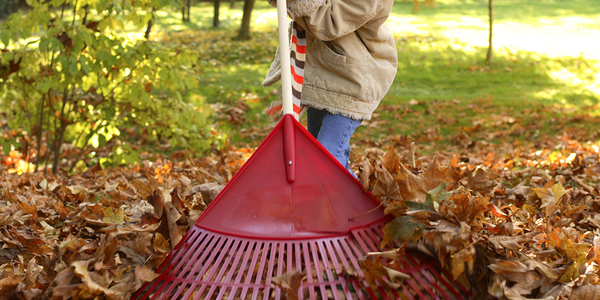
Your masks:
{"label": "yellow-green leafy shrub at left behind the fallen leaves", "polygon": [[[208,107],[188,93],[198,53],[125,31],[170,2],[86,3],[29,1],[0,25],[0,106],[7,126],[27,131],[4,140],[4,151],[35,149],[31,161],[57,172],[67,158],[71,170],[82,160],[133,162],[140,138],[208,149]],[[94,149],[107,143],[112,152],[100,158]]]}

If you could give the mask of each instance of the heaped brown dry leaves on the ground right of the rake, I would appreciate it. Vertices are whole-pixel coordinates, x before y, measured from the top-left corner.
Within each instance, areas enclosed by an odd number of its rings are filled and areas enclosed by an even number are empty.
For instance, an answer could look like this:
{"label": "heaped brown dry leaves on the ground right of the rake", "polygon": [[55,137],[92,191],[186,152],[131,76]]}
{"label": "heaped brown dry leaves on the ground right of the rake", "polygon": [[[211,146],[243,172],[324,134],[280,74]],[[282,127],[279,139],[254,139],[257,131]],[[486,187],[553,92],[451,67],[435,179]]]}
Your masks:
{"label": "heaped brown dry leaves on the ground right of the rake", "polygon": [[390,147],[357,166],[396,217],[384,243],[437,257],[473,299],[600,299],[598,147],[559,143],[445,164]]}

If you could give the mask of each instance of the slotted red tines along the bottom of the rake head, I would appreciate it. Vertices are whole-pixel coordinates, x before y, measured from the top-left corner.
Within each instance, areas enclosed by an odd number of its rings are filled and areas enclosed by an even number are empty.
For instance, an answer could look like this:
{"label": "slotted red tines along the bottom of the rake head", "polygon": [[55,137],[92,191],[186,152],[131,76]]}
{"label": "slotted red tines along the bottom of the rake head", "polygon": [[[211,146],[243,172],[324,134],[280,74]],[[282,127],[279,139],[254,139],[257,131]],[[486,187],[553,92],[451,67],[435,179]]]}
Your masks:
{"label": "slotted red tines along the bottom of the rake head", "polygon": [[399,270],[411,278],[399,290],[366,284],[358,258],[379,250],[382,225],[349,236],[293,241],[239,238],[194,227],[158,270],[160,277],[134,299],[283,299],[285,292],[270,279],[294,270],[306,274],[298,299],[466,298],[468,292],[450,274],[418,253],[402,261]]}

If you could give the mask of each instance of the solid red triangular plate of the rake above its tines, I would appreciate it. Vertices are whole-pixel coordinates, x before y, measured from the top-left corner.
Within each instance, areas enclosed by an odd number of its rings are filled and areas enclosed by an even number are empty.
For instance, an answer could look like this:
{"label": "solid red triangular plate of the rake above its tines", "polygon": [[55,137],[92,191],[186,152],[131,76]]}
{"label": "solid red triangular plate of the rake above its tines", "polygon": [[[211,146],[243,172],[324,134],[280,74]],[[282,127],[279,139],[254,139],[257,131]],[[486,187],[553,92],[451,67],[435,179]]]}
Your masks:
{"label": "solid red triangular plate of the rake above its tines", "polygon": [[[284,161],[284,123],[293,124],[295,180]],[[286,160],[287,161],[287,160]],[[196,226],[248,238],[298,239],[348,234],[384,218],[379,203],[290,115],[196,221]]]}

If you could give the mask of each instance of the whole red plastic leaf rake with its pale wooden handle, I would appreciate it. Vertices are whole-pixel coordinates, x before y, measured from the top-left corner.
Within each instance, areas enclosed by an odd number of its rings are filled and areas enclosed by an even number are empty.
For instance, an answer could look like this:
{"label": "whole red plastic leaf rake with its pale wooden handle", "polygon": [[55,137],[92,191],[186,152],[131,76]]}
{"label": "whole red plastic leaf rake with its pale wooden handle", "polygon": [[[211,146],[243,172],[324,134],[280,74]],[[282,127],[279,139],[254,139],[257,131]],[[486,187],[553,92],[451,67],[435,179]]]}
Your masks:
{"label": "whole red plastic leaf rake with its pale wooden handle", "polygon": [[[278,13],[280,50],[289,53],[285,3]],[[418,253],[403,261],[400,271],[411,278],[400,290],[366,283],[359,258],[382,251],[388,218],[289,113],[286,73],[283,119],[133,299],[280,299],[286,292],[271,278],[296,270],[306,274],[298,299],[465,298],[435,260]]]}

